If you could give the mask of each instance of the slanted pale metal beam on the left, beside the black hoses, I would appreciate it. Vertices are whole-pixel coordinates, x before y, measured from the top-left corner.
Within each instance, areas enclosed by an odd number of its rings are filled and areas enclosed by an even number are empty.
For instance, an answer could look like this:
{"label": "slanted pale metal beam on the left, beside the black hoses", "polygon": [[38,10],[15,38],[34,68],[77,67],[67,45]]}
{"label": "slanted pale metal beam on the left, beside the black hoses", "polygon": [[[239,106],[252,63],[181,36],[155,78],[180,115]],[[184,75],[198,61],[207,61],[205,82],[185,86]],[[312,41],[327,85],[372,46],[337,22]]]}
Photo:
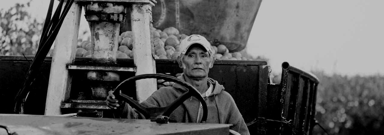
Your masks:
{"label": "slanted pale metal beam on the left, beside the black hoses", "polygon": [[55,40],[45,103],[45,114],[47,115],[59,115],[61,102],[69,98],[71,76],[66,70],[66,65],[73,63],[75,58],[80,15],[81,6],[74,3],[65,16]]}

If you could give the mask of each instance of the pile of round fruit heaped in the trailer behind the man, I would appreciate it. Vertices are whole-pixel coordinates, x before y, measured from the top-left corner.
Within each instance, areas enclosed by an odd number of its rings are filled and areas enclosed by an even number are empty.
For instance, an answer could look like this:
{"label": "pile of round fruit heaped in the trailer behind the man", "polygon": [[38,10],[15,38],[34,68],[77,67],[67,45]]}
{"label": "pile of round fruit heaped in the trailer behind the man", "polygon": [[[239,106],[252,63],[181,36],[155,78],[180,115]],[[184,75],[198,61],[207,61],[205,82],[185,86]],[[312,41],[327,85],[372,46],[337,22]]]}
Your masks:
{"label": "pile of round fruit heaped in the trailer behind the man", "polygon": [[[153,30],[153,45],[155,59],[177,59],[180,56],[180,41],[184,40],[188,35],[180,34],[179,30],[174,27],[165,28],[164,30]],[[133,58],[132,51],[132,31],[125,31],[118,37],[119,48],[116,58]],[[82,41],[76,49],[76,57],[91,57],[92,45],[90,41]],[[220,60],[248,60],[239,52],[229,53],[224,44],[211,46],[211,50],[215,59]]]}

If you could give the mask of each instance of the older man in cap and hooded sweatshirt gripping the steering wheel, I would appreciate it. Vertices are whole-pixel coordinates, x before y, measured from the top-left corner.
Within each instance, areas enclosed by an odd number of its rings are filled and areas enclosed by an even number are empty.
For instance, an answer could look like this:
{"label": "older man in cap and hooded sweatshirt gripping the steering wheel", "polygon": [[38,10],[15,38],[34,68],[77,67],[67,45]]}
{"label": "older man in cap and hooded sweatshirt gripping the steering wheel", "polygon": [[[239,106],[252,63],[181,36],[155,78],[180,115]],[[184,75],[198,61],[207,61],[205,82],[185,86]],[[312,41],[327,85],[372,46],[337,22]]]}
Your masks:
{"label": "older man in cap and hooded sweatshirt gripping the steering wheel", "polygon": [[[248,135],[248,128],[240,114],[235,101],[224,87],[214,79],[208,78],[209,69],[213,67],[214,58],[210,43],[200,35],[191,35],[180,43],[181,54],[177,58],[179,67],[183,74],[178,78],[194,86],[204,98],[208,107],[206,123],[232,124],[230,129]],[[173,102],[185,92],[180,84],[161,87],[155,91],[147,100],[141,104],[146,107],[162,107]],[[113,92],[107,97],[107,105],[111,109],[121,109],[122,116],[131,119],[144,119],[144,117],[132,109],[127,103],[119,105]],[[202,119],[202,105],[195,97],[185,100],[177,109],[170,114],[170,119],[177,122],[200,122]]]}

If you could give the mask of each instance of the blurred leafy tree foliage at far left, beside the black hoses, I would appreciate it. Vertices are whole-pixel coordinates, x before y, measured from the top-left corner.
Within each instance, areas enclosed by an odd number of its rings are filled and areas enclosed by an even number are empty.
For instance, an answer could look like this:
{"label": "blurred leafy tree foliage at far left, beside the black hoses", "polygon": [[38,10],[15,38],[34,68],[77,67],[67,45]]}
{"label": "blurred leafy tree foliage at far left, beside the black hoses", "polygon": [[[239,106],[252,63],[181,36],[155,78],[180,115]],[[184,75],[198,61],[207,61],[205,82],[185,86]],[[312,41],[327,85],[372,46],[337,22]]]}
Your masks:
{"label": "blurred leafy tree foliage at far left, beside the black hoses", "polygon": [[43,21],[26,11],[30,2],[0,10],[0,55],[35,55]]}

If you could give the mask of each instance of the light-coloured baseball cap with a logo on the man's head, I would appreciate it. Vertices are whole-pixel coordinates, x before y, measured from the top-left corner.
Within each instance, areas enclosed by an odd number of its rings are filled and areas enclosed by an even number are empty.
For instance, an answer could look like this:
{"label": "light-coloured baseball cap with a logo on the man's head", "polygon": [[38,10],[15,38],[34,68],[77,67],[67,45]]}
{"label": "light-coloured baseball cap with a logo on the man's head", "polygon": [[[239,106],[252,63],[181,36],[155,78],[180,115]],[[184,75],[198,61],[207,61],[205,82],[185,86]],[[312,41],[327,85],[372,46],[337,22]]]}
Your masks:
{"label": "light-coloured baseball cap with a logo on the man's head", "polygon": [[207,50],[207,52],[209,54],[212,54],[211,43],[209,43],[208,40],[205,39],[204,36],[201,36],[201,35],[190,35],[187,38],[185,38],[184,40],[182,40],[180,42],[180,48],[179,48],[181,51],[181,54],[185,54],[187,52],[188,48],[192,44],[201,44],[205,48],[205,50]]}

